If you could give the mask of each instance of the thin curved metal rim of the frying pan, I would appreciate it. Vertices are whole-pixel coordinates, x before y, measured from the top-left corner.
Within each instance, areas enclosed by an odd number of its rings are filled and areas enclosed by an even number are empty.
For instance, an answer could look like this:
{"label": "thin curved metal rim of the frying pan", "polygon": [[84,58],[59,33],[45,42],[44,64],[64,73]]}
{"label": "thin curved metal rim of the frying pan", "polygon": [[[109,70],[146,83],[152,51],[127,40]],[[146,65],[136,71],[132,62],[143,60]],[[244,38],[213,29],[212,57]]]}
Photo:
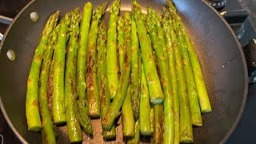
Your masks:
{"label": "thin curved metal rim of the frying pan", "polygon": [[[238,42],[238,38],[236,37],[236,35],[234,34],[234,31],[232,30],[232,28],[230,27],[230,25],[226,22],[226,20],[224,18],[222,18],[222,16],[220,14],[218,14],[218,11],[214,9],[214,7],[210,6],[209,3],[201,0],[206,6],[208,6],[211,10],[214,10],[214,13],[218,15],[219,18],[221,18],[222,22],[225,23],[226,27],[228,28],[228,30],[230,30],[230,33],[232,34],[233,38],[235,39],[235,42],[238,45],[238,50],[239,53],[242,56],[242,63],[243,63],[243,70],[244,70],[244,78],[245,78],[245,83],[244,83],[244,92],[243,92],[243,98],[242,98],[242,103],[240,106],[240,110],[238,112],[238,115],[235,118],[235,122],[233,124],[233,126],[231,126],[230,130],[228,130],[227,134],[224,136],[224,138],[222,138],[222,140],[220,141],[220,143],[225,143],[226,140],[228,138],[230,138],[230,135],[234,132],[234,129],[236,128],[236,126],[238,125],[238,122],[240,121],[240,118],[242,117],[242,113],[243,113],[243,109],[246,105],[246,98],[247,98],[247,94],[248,94],[248,71],[247,71],[247,64],[246,64],[246,58],[245,55],[242,51],[242,46],[240,44],[240,42]],[[27,9],[27,7],[29,7],[33,2],[35,2],[35,0],[31,0],[29,3],[26,4],[26,6],[24,6],[22,8],[22,10],[19,11],[19,13],[15,16],[14,21],[10,24],[10,26],[8,26],[4,37],[2,39],[2,42],[0,43],[0,54],[2,52],[2,45],[5,42],[6,39],[6,35],[9,33],[11,27],[14,25],[14,23],[16,22],[16,20],[18,19],[18,17]],[[6,109],[2,104],[2,97],[0,96],[0,109],[2,110],[2,114],[4,116],[4,118],[6,119],[7,124],[10,126],[10,129],[14,132],[14,134],[18,137],[18,139],[20,140],[20,142],[22,143],[28,143],[26,142],[26,140],[22,137],[21,134],[19,134],[18,130],[15,128],[15,126],[13,125],[13,123],[10,121],[10,118],[8,116],[8,114],[6,114]]]}

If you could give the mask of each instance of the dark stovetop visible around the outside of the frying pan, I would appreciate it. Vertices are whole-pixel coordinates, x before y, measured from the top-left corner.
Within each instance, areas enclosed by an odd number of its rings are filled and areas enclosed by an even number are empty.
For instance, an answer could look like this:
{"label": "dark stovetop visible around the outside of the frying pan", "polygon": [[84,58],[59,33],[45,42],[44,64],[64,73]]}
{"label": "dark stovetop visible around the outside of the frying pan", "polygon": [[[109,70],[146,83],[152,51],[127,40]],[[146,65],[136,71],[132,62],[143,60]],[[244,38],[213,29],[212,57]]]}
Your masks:
{"label": "dark stovetop visible around the outside of the frying pan", "polygon": [[[14,18],[18,11],[22,9],[30,0],[2,0],[0,1],[0,14]],[[250,39],[256,38],[256,1],[255,0],[229,0],[222,10],[241,10],[246,9],[249,17],[246,19],[245,36],[240,40],[242,46]],[[4,33],[8,25],[0,23],[0,33]],[[226,143],[255,143],[256,130],[256,84],[250,85],[248,90],[246,106],[238,126],[231,134]],[[8,126],[0,110],[0,144],[1,143],[20,143],[18,138]]]}

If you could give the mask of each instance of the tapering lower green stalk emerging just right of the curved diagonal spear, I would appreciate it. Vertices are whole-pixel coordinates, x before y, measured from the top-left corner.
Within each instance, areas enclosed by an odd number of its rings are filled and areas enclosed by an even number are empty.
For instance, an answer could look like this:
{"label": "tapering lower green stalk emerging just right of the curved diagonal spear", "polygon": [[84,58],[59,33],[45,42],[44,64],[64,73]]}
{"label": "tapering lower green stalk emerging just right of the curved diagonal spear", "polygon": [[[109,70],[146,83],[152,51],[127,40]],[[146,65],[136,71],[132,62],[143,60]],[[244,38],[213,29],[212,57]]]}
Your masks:
{"label": "tapering lower green stalk emerging just right of the curved diagonal spear", "polygon": [[122,134],[125,137],[134,137],[135,134],[135,121],[134,111],[131,105],[131,85],[128,86],[126,98],[122,103]]}

